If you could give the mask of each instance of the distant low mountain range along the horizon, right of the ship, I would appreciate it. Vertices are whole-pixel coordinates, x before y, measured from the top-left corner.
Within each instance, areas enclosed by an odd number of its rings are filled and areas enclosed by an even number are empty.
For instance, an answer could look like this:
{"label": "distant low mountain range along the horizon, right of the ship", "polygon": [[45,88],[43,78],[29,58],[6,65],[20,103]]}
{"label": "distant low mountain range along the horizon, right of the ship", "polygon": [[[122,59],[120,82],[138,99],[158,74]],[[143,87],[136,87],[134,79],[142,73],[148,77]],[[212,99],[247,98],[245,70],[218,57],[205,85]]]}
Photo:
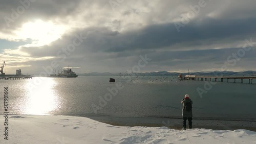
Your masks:
{"label": "distant low mountain range along the horizon, right of the ship", "polygon": [[[168,72],[168,71],[158,71],[158,72],[147,72],[147,73],[132,73],[133,76],[178,76],[179,74],[188,75],[188,73],[176,73],[176,72]],[[88,74],[77,74],[78,76],[127,76],[131,74],[127,73],[119,73],[119,74],[111,74],[111,73],[88,73]],[[189,75],[196,76],[256,76],[256,71],[248,70],[248,71],[207,71],[207,72],[191,72]]]}

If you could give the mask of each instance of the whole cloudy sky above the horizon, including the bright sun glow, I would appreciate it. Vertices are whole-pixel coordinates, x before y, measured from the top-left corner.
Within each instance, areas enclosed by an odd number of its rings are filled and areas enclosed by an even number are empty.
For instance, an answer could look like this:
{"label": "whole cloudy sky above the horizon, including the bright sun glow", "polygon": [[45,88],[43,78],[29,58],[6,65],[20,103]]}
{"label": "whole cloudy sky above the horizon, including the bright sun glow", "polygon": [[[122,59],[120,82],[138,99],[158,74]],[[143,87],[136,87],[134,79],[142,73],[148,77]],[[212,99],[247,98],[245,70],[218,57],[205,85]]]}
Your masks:
{"label": "whole cloudy sky above the horizon, including the bright sun glow", "polygon": [[256,70],[255,6],[254,0],[0,0],[0,64],[6,62],[6,74],[65,66],[76,73]]}

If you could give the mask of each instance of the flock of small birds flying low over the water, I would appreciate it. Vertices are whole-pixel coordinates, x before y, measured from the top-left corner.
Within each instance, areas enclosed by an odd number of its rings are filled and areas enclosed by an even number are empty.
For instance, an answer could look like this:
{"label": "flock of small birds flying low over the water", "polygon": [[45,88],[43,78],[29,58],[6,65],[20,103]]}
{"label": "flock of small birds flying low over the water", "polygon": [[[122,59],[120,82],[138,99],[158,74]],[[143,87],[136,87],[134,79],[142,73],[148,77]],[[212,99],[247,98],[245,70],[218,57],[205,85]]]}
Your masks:
{"label": "flock of small birds flying low over the water", "polygon": [[145,76],[143,73],[128,73],[125,71],[124,73],[118,74],[120,78],[118,80],[127,80],[132,82],[141,82],[141,80],[147,80],[147,82],[172,82],[177,81],[178,77],[167,77],[167,76]]}

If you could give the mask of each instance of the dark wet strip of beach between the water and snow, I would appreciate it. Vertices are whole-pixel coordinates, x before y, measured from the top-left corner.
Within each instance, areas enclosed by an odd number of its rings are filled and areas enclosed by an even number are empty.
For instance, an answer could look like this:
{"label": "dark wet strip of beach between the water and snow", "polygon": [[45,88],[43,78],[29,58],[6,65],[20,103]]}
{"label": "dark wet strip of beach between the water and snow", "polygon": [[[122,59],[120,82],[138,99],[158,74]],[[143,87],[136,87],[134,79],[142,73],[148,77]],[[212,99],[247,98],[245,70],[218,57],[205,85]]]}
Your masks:
{"label": "dark wet strip of beach between the water and snow", "polygon": [[[129,127],[167,127],[169,129],[181,130],[183,128],[182,118],[152,118],[152,117],[93,117],[95,121],[114,126]],[[213,130],[237,130],[246,129],[256,132],[256,121],[228,121],[212,119],[193,119],[193,129],[213,129]],[[188,122],[187,122],[188,129]]]}

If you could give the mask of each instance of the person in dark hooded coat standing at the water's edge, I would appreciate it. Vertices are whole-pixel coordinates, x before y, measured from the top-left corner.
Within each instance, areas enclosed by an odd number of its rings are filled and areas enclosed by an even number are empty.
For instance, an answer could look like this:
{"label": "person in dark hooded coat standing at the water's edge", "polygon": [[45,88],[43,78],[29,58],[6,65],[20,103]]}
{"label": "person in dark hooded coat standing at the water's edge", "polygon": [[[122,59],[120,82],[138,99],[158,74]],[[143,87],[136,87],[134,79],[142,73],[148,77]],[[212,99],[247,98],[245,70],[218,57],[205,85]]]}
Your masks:
{"label": "person in dark hooded coat standing at the water's edge", "polygon": [[193,102],[190,100],[189,95],[185,94],[185,97],[181,100],[182,108],[182,117],[183,117],[183,129],[186,129],[186,123],[188,120],[189,129],[192,128],[192,104]]}

